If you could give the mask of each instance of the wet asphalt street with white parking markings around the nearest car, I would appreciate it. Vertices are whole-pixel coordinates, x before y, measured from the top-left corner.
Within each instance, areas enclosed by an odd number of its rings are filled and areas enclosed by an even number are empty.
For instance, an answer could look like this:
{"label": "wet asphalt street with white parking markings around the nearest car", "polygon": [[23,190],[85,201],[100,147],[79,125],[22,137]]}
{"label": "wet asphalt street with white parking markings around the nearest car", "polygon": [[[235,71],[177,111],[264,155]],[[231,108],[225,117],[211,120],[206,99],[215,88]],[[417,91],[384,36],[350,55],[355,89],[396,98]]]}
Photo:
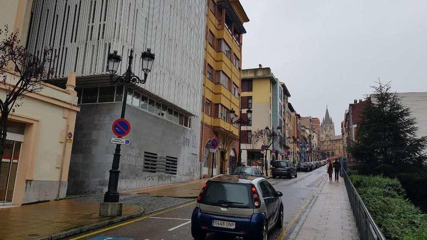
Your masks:
{"label": "wet asphalt street with white parking markings around the nearest car", "polygon": [[[319,185],[325,179],[326,169],[320,167],[312,172],[298,172],[292,179],[268,179],[277,191],[283,192],[284,227],[269,232],[269,240],[286,239],[293,230],[300,215],[307,208]],[[122,224],[105,227],[86,233],[72,240],[193,240],[191,237],[191,213],[196,202],[190,202],[174,208],[133,219]],[[234,237],[209,234],[207,240],[230,239]]]}

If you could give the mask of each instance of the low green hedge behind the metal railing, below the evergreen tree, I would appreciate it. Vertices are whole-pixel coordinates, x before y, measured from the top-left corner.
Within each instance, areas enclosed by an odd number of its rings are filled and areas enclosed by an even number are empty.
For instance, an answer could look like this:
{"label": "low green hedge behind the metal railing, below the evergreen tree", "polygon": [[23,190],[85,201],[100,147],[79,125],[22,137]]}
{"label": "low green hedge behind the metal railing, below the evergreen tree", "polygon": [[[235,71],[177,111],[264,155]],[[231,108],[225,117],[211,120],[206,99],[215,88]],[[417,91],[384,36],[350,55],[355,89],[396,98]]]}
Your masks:
{"label": "low green hedge behind the metal railing, below the evergreen tree", "polygon": [[427,214],[409,200],[398,179],[350,175],[363,203],[389,240],[427,240]]}

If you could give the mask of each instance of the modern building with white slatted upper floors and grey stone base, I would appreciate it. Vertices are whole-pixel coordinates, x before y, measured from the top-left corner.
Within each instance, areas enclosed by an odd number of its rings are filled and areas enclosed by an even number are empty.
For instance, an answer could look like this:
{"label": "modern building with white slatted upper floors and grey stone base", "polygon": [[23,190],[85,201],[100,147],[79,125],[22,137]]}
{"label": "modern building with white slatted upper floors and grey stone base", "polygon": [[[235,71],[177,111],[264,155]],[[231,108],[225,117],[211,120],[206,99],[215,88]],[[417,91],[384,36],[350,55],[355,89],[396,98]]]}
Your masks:
{"label": "modern building with white slatted upper floors and grey stone base", "polygon": [[[77,115],[68,193],[104,192],[114,144],[111,125],[131,123],[131,145],[122,146],[120,190],[200,176],[198,146],[206,2],[200,0],[34,0],[27,48],[42,57],[52,48],[52,83],[76,73]],[[147,82],[112,85],[107,56],[122,56],[124,74],[133,49],[132,71],[143,78],[141,53],[156,57]]]}

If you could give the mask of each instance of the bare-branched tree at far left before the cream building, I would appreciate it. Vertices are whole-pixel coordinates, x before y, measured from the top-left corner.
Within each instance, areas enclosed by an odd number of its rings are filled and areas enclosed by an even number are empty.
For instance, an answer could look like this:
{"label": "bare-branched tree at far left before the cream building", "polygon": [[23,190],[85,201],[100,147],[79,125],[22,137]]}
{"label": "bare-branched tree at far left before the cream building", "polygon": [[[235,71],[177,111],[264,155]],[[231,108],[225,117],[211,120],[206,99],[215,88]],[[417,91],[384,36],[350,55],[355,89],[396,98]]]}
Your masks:
{"label": "bare-branched tree at far left before the cream building", "polygon": [[22,105],[24,95],[41,91],[42,81],[49,80],[53,72],[47,69],[51,49],[45,48],[39,59],[20,44],[18,33],[9,32],[7,25],[0,30],[0,84],[5,91],[0,99],[0,156],[4,153],[9,114]]}

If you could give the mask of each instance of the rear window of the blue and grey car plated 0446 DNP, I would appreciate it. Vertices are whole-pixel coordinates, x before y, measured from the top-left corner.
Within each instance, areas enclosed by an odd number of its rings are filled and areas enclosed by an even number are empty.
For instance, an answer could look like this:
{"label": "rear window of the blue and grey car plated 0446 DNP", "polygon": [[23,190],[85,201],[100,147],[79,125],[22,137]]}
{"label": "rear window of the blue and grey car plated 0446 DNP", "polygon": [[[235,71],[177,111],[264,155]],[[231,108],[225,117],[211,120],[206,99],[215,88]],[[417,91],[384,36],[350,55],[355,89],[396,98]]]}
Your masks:
{"label": "rear window of the blue and grey car plated 0446 DNP", "polygon": [[200,203],[229,208],[253,208],[250,185],[244,183],[209,181]]}

